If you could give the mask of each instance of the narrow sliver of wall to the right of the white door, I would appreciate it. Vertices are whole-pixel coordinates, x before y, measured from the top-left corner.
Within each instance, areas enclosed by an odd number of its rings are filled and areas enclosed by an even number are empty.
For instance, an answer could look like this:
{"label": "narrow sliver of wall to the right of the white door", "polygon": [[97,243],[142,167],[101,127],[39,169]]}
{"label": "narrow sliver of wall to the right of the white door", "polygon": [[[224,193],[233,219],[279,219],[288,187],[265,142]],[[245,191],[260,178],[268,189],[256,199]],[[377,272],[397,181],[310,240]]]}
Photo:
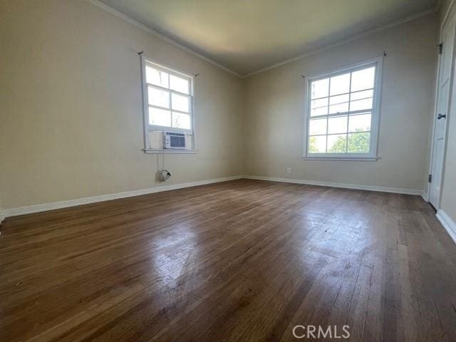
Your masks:
{"label": "narrow sliver of wall to the right of the white door", "polygon": [[[445,1],[449,3],[450,1]],[[444,7],[446,10],[449,6]],[[453,9],[454,11],[454,9]],[[441,22],[445,11],[440,15]],[[443,183],[440,207],[456,222],[456,71],[453,73],[452,103],[447,115],[447,150],[443,167]]]}

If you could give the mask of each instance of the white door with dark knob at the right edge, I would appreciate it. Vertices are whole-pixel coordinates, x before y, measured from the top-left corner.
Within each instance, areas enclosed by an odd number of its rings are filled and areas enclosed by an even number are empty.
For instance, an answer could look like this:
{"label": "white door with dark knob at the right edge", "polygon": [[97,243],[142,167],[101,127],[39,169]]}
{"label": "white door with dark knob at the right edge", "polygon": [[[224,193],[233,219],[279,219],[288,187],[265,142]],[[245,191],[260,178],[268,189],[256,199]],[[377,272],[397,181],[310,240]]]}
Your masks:
{"label": "white door with dark knob at the right edge", "polygon": [[455,41],[454,12],[445,22],[442,29],[442,54],[439,61],[439,75],[437,79],[437,113],[434,118],[434,134],[432,141],[431,176],[429,202],[439,208],[440,185],[442,184],[443,157],[445,153],[445,129],[447,115],[450,109],[450,91],[452,87],[452,61]]}

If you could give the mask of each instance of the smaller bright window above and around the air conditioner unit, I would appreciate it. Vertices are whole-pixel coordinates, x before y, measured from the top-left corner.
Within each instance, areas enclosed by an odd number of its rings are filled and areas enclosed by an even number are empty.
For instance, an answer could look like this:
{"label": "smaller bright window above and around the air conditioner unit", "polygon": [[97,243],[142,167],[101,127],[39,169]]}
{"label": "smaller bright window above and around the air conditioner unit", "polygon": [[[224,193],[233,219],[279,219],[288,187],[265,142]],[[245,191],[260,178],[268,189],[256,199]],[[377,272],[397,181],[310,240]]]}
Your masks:
{"label": "smaller bright window above and around the air conditioner unit", "polygon": [[193,150],[192,81],[192,76],[142,58],[146,152],[163,149],[165,131],[184,133],[185,149]]}

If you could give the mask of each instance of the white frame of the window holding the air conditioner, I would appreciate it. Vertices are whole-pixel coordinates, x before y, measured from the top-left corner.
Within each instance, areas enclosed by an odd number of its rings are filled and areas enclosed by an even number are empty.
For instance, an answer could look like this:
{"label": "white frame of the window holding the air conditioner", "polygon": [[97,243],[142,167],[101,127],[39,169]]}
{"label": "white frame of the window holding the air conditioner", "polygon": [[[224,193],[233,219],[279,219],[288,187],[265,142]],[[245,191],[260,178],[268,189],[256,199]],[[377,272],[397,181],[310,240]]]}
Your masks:
{"label": "white frame of the window holding the air conditioner", "polygon": [[[152,68],[155,68],[157,70],[163,71],[165,73],[168,73],[170,75],[174,75],[180,78],[187,78],[190,82],[190,89],[189,89],[189,94],[185,93],[180,93],[177,90],[172,90],[168,88],[163,88],[160,86],[156,86],[155,84],[152,83],[147,83],[146,81],[146,75],[145,75],[145,67],[146,65],[152,66]],[[155,153],[155,152],[165,152],[165,153],[195,153],[195,115],[194,115],[194,106],[193,106],[193,84],[194,84],[194,77],[188,73],[184,73],[182,71],[177,71],[175,68],[170,68],[167,66],[163,66],[162,64],[159,64],[155,61],[153,61],[151,58],[147,58],[145,56],[141,56],[141,83],[142,83],[142,114],[143,114],[143,119],[144,119],[144,151],[147,153]],[[166,90],[170,92],[170,106],[171,106],[171,97],[172,94],[175,93],[177,95],[185,95],[190,98],[190,105],[189,105],[189,113],[182,112],[180,110],[172,110],[171,108],[161,108],[160,106],[157,105],[152,105],[154,108],[159,108],[159,109],[164,109],[164,110],[170,110],[171,112],[177,112],[177,113],[184,113],[184,114],[189,114],[190,115],[190,129],[185,129],[185,128],[174,128],[171,126],[161,126],[161,125],[150,125],[149,123],[149,96],[148,96],[148,87],[151,86],[152,88],[157,88],[161,90]],[[167,132],[177,132],[177,133],[189,133],[192,135],[192,150],[172,150],[172,149],[152,149],[149,146],[149,132],[150,131],[167,131]]]}

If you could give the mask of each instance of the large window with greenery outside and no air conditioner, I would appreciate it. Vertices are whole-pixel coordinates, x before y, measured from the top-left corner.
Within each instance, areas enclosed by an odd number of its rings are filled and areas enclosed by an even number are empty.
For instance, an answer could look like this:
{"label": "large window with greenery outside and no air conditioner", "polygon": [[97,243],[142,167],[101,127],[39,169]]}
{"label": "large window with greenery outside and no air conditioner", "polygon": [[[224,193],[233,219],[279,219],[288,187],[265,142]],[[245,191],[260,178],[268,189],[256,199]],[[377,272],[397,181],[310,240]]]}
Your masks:
{"label": "large window with greenery outside and no air conditioner", "polygon": [[381,59],[307,80],[304,157],[375,159]]}

